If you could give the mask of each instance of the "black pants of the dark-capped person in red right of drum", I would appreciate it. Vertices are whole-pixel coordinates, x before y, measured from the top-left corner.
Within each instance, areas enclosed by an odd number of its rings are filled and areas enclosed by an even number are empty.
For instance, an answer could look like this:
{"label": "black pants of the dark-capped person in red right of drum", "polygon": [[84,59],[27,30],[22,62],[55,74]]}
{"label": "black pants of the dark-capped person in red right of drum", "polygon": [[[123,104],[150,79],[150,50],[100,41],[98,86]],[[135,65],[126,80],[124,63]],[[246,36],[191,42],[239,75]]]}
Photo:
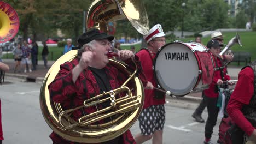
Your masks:
{"label": "black pants of the dark-capped person in red right of drum", "polygon": [[204,99],[206,100],[206,107],[208,111],[208,118],[205,124],[205,137],[210,139],[219,113],[219,107],[217,107],[218,98],[210,98],[205,95]]}

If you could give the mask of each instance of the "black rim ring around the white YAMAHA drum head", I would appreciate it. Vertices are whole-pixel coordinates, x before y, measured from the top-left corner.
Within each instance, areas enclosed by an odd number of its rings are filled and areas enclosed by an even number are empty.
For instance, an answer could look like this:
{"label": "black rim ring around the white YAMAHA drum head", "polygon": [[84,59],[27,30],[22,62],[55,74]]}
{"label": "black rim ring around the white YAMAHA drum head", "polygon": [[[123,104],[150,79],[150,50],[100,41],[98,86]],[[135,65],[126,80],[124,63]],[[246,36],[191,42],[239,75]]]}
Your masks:
{"label": "black rim ring around the white YAMAHA drum head", "polygon": [[[161,49],[156,53],[156,56],[155,56],[155,58],[154,58],[154,62],[153,62],[153,67],[154,67],[154,69],[153,69],[154,79],[155,79],[156,85],[159,85],[160,88],[162,88],[162,89],[164,89],[164,88],[161,86],[161,84],[160,84],[160,82],[159,82],[159,80],[158,80],[158,78],[157,78],[157,76],[156,76],[156,71],[155,71],[156,59],[158,58],[159,53],[160,53],[167,45],[170,45],[170,44],[177,44],[177,43],[178,43],[178,44],[185,45],[186,47],[188,47],[188,49],[191,50],[191,47],[190,47],[189,45],[185,44],[185,43],[182,42],[182,41],[171,42],[171,43],[167,43],[167,44],[165,44],[164,46],[162,46]],[[190,43],[195,43],[195,42],[190,42]],[[197,44],[197,43],[196,43],[196,44]],[[205,46],[203,46],[203,47],[205,47]],[[194,52],[194,53],[196,53],[196,52]],[[198,58],[197,53],[196,53],[194,56],[195,56],[196,58]],[[200,65],[199,62],[197,62],[197,61],[196,61],[196,63],[197,63],[197,68],[200,69],[200,68],[201,68],[201,65]],[[199,76],[201,77],[201,75],[199,75]],[[199,82],[200,82],[200,79],[199,79],[199,77],[197,77],[195,86],[194,86],[192,89],[190,89],[190,91],[193,90],[193,89],[195,89],[195,87],[197,87],[197,85],[199,84]],[[168,90],[165,89],[165,91],[168,91]],[[171,93],[172,93],[172,92],[171,92]],[[182,95],[175,95],[175,97],[184,97],[185,95],[187,95],[187,94],[189,94],[189,93],[191,93],[191,92],[188,92],[188,93],[185,93],[185,94],[182,94]],[[174,95],[174,94],[173,94],[173,95]]]}

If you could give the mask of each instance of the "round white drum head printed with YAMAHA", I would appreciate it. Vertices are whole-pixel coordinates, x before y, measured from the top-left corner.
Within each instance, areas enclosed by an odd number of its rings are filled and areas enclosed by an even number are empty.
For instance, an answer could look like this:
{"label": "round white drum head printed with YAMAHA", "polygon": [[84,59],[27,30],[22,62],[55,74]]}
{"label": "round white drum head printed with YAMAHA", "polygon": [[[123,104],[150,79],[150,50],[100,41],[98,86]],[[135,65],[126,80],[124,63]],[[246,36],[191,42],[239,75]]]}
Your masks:
{"label": "round white drum head printed with YAMAHA", "polygon": [[166,44],[154,59],[156,81],[177,97],[191,92],[197,85],[199,64],[194,52],[185,44]]}

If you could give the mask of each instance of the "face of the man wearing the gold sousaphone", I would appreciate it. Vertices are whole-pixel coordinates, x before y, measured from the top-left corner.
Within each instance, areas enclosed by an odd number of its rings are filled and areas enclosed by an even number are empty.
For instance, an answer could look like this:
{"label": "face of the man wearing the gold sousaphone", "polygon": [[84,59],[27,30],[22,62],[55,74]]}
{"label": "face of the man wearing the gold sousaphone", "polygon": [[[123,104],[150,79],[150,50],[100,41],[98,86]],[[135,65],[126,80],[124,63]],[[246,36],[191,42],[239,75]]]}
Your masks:
{"label": "face of the man wearing the gold sousaphone", "polygon": [[108,39],[96,40],[92,50],[95,52],[94,61],[96,61],[98,64],[106,65],[108,63],[107,53],[111,50],[111,48],[112,44],[108,41]]}

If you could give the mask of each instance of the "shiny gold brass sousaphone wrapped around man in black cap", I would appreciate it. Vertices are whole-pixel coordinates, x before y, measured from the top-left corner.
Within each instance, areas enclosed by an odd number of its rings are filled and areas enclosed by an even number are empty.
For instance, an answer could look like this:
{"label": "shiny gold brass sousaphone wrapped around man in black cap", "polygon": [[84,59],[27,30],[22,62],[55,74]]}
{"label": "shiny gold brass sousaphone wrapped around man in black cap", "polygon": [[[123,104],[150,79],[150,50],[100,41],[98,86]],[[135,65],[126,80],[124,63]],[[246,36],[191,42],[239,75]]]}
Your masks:
{"label": "shiny gold brass sousaphone wrapped around man in black cap", "polygon": [[[148,33],[149,22],[146,10],[141,1],[132,0],[96,0],[92,2],[86,20],[87,28],[97,28],[107,32],[108,21],[117,21],[125,17],[127,17],[138,32],[142,34]],[[44,78],[40,91],[40,107],[44,119],[57,135],[69,141],[100,143],[112,140],[125,133],[136,122],[143,107],[143,85],[135,75],[137,70],[129,71],[126,64],[109,59],[109,63],[120,69],[120,73],[127,75],[127,80],[123,85],[120,88],[113,89],[113,91],[95,95],[95,97],[84,101],[82,106],[63,110],[61,104],[54,103],[51,100],[48,85],[54,80],[62,63],[72,61],[77,57],[77,51],[69,51],[57,59]],[[127,83],[129,83],[129,87]],[[122,98],[115,97],[119,92],[125,92],[127,95]],[[103,99],[102,96],[104,95],[110,96],[107,99]],[[106,109],[99,110],[90,115],[84,115],[78,121],[74,121],[74,119],[69,117],[77,109],[86,109],[86,107],[95,106],[109,99],[112,101],[112,106]],[[110,117],[112,121],[104,124],[94,124],[94,122],[106,117]]]}

